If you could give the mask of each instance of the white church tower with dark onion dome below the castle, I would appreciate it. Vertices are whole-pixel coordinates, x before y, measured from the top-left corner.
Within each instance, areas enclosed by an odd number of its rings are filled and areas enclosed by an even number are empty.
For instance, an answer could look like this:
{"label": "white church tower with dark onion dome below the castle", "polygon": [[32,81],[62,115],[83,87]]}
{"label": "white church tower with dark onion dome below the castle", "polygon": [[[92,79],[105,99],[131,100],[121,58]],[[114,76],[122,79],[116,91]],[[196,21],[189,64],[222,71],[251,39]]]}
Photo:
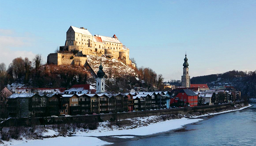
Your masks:
{"label": "white church tower with dark onion dome below the castle", "polygon": [[103,67],[100,63],[99,66],[99,71],[97,72],[97,76],[98,78],[96,79],[97,84],[96,84],[96,93],[100,94],[100,93],[104,93],[105,92],[105,79],[104,79],[104,71],[102,70]]}

